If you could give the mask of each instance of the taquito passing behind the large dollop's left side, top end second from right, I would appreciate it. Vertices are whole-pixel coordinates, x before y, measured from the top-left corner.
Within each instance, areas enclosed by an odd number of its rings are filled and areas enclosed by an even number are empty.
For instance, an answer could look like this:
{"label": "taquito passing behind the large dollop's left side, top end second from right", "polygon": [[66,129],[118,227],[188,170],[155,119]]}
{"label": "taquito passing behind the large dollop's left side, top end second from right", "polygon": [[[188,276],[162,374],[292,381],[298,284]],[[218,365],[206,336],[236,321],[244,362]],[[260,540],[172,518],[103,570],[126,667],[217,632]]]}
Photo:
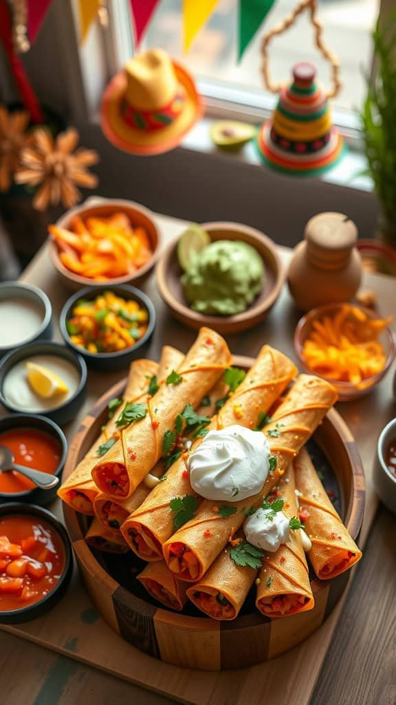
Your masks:
{"label": "taquito passing behind the large dollop's left side, top end second from right", "polygon": [[[208,430],[232,424],[253,428],[259,412],[267,412],[295,376],[290,360],[269,345],[261,348],[254,365],[236,391],[218,411]],[[197,439],[192,450],[199,446]],[[144,560],[161,560],[162,546],[173,534],[171,499],[195,494],[187,472],[187,454],[166,471],[166,480],[154,487],[147,499],[124,522],[121,531],[132,551]],[[221,548],[219,548],[219,551]]]}

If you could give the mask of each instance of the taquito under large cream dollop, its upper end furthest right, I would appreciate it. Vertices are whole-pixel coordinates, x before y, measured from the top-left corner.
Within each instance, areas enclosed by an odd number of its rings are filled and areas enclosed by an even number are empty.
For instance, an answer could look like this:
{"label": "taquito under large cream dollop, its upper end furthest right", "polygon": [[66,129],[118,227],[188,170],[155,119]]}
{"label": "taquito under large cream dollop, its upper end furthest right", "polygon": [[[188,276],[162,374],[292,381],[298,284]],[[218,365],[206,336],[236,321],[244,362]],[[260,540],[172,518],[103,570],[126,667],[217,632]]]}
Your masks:
{"label": "taquito under large cream dollop, its upper end furthest right", "polygon": [[180,580],[202,580],[230,534],[242,526],[245,508],[259,506],[336,399],[335,388],[325,380],[308,374],[297,377],[274,412],[271,424],[262,431],[267,436],[271,455],[276,458],[276,470],[268,473],[261,492],[247,500],[233,502],[237,513],[227,518],[216,513],[218,502],[204,500],[194,518],[163,544],[166,563]]}

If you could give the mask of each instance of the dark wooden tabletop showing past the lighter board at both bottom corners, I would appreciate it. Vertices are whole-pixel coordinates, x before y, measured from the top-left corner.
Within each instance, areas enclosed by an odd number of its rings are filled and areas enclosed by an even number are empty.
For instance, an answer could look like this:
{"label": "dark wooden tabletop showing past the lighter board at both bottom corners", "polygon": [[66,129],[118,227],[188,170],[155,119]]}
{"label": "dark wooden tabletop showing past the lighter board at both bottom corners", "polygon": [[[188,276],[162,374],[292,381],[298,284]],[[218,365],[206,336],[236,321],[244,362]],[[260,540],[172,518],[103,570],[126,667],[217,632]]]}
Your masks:
{"label": "dark wooden tabletop showing past the lighter board at both bottom corners", "polygon": [[[395,517],[380,508],[311,705],[396,703],[395,529]],[[345,658],[352,652],[353,660]],[[173,702],[2,632],[0,692],[1,705]],[[274,699],[275,703],[307,705],[293,700],[292,693],[287,702]],[[232,704],[219,700],[218,705]]]}

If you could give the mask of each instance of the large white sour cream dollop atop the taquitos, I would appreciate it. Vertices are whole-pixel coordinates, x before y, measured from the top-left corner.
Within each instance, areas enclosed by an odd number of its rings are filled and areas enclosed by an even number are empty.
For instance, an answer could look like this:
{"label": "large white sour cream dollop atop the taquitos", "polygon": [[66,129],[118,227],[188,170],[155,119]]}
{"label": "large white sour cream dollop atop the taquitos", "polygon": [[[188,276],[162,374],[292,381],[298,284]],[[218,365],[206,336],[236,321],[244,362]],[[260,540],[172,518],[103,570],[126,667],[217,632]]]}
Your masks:
{"label": "large white sour cream dollop atop the taquitos", "polygon": [[213,501],[239,502],[261,491],[269,472],[264,434],[239,424],[209,431],[188,458],[192,489]]}

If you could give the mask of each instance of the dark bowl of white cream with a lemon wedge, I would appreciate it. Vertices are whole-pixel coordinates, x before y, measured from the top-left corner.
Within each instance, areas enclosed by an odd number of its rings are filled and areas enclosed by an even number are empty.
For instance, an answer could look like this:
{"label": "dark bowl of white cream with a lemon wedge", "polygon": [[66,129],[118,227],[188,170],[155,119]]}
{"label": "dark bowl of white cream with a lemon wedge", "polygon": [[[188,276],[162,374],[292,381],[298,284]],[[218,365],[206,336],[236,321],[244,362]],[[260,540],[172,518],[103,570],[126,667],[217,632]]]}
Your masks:
{"label": "dark bowl of white cream with a lemon wedge", "polygon": [[85,360],[60,343],[30,343],[0,360],[0,402],[11,412],[66,424],[84,403],[86,386]]}

